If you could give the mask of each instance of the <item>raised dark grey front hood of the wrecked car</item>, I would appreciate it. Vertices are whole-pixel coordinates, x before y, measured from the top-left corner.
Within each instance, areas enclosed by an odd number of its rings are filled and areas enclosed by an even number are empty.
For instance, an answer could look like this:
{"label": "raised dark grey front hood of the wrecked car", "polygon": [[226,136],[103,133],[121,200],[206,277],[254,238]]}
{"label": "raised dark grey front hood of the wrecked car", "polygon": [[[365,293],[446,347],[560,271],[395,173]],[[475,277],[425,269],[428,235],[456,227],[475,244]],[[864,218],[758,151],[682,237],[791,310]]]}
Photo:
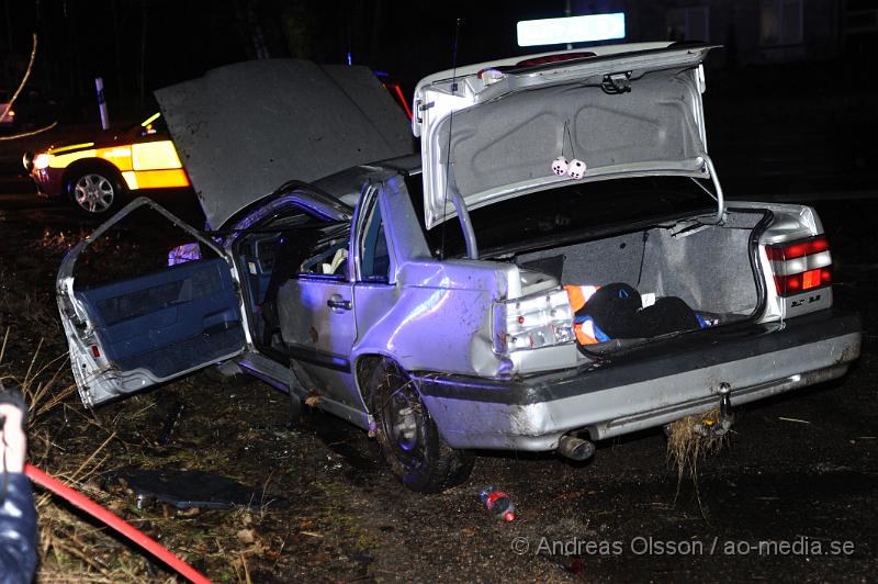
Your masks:
{"label": "raised dark grey front hood of the wrecked car", "polygon": [[214,228],[288,180],[414,147],[405,113],[362,66],[246,61],[159,89],[156,99]]}

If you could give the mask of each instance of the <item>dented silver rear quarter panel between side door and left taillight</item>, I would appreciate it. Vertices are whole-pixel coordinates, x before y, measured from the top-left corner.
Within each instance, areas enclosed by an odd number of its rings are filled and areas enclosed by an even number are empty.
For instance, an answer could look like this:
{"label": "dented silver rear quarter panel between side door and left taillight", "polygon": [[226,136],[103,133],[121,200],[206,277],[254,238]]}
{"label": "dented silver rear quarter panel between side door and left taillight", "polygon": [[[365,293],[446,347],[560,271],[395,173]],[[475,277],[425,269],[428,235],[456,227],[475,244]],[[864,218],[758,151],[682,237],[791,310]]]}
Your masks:
{"label": "dented silver rear quarter panel between side door and left taillight", "polygon": [[508,262],[432,257],[399,176],[378,183],[372,196],[374,201],[364,199],[361,204],[381,212],[395,271],[390,271],[386,282],[354,289],[358,330],[362,332],[353,347],[354,358],[384,355],[406,371],[434,369],[491,378],[576,364],[572,344],[510,357],[493,348],[495,304],[558,282],[548,277],[529,282]]}

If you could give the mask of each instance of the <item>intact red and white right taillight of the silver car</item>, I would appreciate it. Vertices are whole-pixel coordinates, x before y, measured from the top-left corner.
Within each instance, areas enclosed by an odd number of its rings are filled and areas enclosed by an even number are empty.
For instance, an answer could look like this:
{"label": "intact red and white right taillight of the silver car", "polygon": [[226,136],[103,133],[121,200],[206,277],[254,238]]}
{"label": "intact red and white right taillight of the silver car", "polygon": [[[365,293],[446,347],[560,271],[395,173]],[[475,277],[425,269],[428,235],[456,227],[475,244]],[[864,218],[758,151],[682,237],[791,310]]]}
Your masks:
{"label": "intact red and white right taillight of the silver car", "polygon": [[765,247],[781,296],[832,283],[832,256],[823,236]]}

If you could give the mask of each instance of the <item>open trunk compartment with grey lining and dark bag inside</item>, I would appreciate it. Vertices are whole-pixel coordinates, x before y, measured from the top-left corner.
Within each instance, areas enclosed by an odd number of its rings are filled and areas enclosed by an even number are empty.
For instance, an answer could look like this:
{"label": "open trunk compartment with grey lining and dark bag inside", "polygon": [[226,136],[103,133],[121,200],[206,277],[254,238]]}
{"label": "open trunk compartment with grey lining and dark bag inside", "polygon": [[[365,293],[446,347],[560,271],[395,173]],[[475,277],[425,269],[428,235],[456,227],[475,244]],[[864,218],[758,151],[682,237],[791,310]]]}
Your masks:
{"label": "open trunk compartment with grey lining and dark bag inside", "polygon": [[769,216],[765,211],[729,210],[722,225],[680,218],[494,259],[516,263],[522,279],[536,272],[564,287],[609,287],[605,292],[612,289],[615,294],[618,289],[626,299],[641,295],[631,299],[634,306],[616,301],[600,313],[597,304],[590,311],[588,304],[606,302],[606,294],[586,297],[579,311],[573,306],[578,326],[584,314],[590,321],[585,337],[577,334],[581,349],[603,353],[755,317],[765,301],[756,240]]}

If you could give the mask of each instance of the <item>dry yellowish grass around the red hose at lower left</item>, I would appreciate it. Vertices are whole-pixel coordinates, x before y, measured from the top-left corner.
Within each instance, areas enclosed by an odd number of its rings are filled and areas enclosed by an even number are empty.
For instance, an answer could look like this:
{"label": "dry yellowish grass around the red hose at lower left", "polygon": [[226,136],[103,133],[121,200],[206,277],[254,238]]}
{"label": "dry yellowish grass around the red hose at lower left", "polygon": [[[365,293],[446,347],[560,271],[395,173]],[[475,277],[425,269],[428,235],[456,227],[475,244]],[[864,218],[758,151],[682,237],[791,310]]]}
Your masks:
{"label": "dry yellowish grass around the red hose at lower left", "polygon": [[[228,468],[234,461],[223,460],[232,454],[222,442],[215,449],[171,449],[157,459],[153,434],[140,436],[137,430],[155,426],[157,396],[132,396],[111,416],[83,409],[67,355],[43,357],[45,346],[42,339],[29,342],[9,329],[0,336],[0,380],[7,388],[21,388],[29,404],[32,464],[218,581],[256,581],[260,561],[271,565],[280,560],[289,535],[279,540],[267,530],[273,525],[267,507],[257,513],[178,510],[159,504],[139,508],[124,486],[108,483],[106,474],[121,468],[188,468],[203,460]],[[30,358],[10,359],[11,349]],[[179,582],[148,553],[63,498],[34,486],[34,503],[40,521],[37,583]]]}

